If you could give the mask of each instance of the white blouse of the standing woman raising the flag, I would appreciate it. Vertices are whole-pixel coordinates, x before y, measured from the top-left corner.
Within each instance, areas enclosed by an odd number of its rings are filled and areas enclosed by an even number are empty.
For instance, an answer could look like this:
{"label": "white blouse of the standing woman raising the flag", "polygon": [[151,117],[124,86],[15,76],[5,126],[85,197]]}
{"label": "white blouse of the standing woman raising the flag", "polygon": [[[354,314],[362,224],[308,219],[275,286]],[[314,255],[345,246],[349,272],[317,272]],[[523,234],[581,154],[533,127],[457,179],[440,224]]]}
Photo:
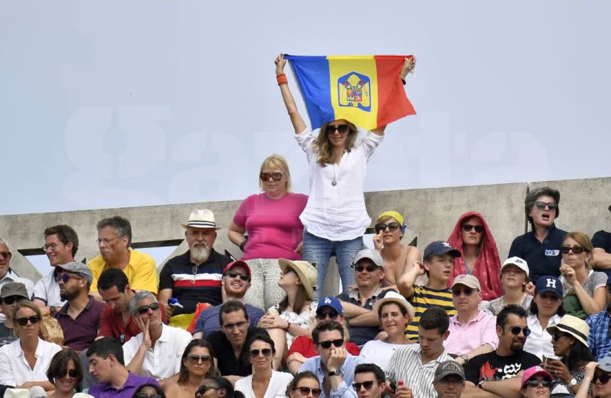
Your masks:
{"label": "white blouse of the standing woman raising the flag", "polygon": [[[369,132],[356,147],[343,154],[338,165],[321,167],[312,148],[316,139],[313,132],[295,135],[310,165],[309,198],[299,216],[309,233],[330,241],[349,241],[365,233],[371,223],[363,195],[365,169],[383,138]],[[332,184],[333,181],[337,184]]]}

